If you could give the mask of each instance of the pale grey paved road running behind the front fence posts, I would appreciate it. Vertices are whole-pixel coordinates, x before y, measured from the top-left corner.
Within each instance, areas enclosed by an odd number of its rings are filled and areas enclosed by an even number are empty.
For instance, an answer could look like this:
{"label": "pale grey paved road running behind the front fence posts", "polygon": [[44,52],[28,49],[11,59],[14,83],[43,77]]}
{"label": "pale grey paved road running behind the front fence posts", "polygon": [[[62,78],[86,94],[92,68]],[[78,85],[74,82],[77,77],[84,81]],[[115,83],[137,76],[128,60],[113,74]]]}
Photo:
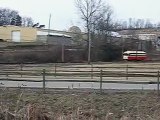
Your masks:
{"label": "pale grey paved road running behind the front fence posts", "polygon": [[[23,81],[0,81],[3,87],[37,87],[42,88],[42,82],[23,82]],[[100,83],[93,82],[46,82],[47,88],[91,88],[99,89]],[[157,89],[156,84],[119,84],[119,83],[103,83],[103,89]]]}

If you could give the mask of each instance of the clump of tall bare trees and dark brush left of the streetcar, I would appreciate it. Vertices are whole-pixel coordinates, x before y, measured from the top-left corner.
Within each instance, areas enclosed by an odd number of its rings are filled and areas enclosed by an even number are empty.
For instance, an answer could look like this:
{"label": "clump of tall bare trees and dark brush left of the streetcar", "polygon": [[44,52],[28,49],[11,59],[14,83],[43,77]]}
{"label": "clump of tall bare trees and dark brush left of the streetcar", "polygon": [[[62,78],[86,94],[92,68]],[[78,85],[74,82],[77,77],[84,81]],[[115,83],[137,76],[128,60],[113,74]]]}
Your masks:
{"label": "clump of tall bare trees and dark brush left of the streetcar", "polygon": [[103,0],[75,0],[87,32],[87,58],[91,61],[112,61],[121,56],[121,47],[112,44],[111,31],[117,28],[111,6]]}

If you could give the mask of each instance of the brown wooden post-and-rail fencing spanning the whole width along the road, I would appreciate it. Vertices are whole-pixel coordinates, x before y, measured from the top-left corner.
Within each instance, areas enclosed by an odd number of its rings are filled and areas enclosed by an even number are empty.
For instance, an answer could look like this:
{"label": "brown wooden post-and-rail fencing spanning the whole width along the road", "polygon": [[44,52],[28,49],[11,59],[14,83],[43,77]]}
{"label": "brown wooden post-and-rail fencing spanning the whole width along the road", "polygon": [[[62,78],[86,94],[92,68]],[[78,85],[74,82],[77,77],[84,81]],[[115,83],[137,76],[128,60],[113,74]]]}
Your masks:
{"label": "brown wooden post-and-rail fencing spanning the whole width along the road", "polygon": [[[104,83],[157,84],[159,94],[159,68],[156,65],[136,64],[20,64],[1,65],[0,80],[42,83],[47,82],[98,83],[102,92]],[[3,84],[3,83],[2,83]],[[73,88],[73,86],[72,86]]]}

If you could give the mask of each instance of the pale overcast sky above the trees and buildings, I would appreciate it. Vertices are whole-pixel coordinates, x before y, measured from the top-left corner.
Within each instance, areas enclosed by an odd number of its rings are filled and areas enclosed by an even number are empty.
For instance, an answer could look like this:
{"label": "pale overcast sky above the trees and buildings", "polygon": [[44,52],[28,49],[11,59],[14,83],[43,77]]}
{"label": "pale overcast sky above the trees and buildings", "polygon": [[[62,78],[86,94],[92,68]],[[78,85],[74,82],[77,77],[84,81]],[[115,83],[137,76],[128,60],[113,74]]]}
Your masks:
{"label": "pale overcast sky above the trees and buildings", "polygon": [[[160,21],[160,0],[104,0],[114,11],[115,20],[128,18]],[[74,0],[0,0],[0,7],[19,11],[20,15],[32,17],[34,22],[48,27],[49,14],[51,28],[68,30],[70,26],[81,26]]]}

